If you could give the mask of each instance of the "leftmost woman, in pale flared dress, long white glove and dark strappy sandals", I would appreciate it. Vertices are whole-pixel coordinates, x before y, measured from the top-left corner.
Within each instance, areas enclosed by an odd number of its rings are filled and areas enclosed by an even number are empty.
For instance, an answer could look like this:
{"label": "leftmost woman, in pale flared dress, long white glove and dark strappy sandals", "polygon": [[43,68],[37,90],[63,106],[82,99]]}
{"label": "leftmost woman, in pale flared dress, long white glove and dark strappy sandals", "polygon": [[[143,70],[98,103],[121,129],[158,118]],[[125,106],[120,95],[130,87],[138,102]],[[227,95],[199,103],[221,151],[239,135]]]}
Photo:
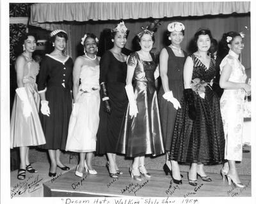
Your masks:
{"label": "leftmost woman, in pale flared dress, long white glove and dark strappy sandals", "polygon": [[38,115],[40,96],[37,90],[36,75],[39,64],[32,59],[36,50],[36,39],[33,34],[22,36],[22,54],[15,61],[17,72],[16,95],[13,102],[10,124],[10,148],[19,147],[20,167],[17,179],[26,179],[26,171],[36,173],[29,163],[29,146],[45,144],[44,131]]}

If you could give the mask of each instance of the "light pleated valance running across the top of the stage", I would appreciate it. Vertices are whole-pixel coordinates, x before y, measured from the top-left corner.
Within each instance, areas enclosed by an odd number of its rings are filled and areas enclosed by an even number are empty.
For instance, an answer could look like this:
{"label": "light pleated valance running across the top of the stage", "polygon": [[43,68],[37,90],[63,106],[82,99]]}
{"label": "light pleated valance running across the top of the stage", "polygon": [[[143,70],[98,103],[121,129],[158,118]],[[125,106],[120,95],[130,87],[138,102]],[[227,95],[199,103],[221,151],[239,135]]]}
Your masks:
{"label": "light pleated valance running across the top of the stage", "polygon": [[[250,12],[242,2],[38,3],[31,6],[30,25],[52,22],[187,17]],[[42,26],[41,26],[42,27]],[[45,28],[46,28],[45,27]]]}

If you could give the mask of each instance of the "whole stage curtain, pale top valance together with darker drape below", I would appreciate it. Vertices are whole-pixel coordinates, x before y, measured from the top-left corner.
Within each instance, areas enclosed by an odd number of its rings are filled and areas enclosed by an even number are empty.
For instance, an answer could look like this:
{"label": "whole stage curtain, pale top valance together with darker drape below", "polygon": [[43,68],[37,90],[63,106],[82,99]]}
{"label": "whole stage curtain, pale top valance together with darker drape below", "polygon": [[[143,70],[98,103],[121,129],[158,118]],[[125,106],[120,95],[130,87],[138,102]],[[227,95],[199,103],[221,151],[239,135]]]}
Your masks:
{"label": "whole stage curtain, pale top valance together with darker drape below", "polygon": [[130,30],[125,47],[134,50],[134,36],[141,31],[141,26],[150,24],[154,18],[161,24],[154,43],[156,52],[170,44],[167,25],[175,20],[186,27],[181,47],[188,53],[193,34],[200,27],[211,29],[217,41],[228,31],[243,31],[246,37],[242,63],[250,68],[250,2],[39,3],[31,6],[29,24],[51,31],[67,31],[70,39],[67,51],[76,59],[83,54],[79,49],[85,33],[94,33],[100,38],[104,28],[111,28],[121,20]]}

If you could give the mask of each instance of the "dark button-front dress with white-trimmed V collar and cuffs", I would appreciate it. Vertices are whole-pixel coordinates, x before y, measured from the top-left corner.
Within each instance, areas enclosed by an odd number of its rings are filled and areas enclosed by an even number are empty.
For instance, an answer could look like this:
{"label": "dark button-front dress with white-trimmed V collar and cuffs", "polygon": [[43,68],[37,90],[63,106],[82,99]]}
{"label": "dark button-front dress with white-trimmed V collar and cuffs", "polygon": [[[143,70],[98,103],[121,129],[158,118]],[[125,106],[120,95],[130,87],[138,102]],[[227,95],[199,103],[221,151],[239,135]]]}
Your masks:
{"label": "dark button-front dress with white-trimmed V collar and cuffs", "polygon": [[73,61],[69,56],[60,61],[46,54],[42,60],[38,91],[47,89],[45,98],[51,112],[49,116],[39,112],[46,140],[45,145],[40,145],[42,149],[65,150],[72,112],[72,70]]}

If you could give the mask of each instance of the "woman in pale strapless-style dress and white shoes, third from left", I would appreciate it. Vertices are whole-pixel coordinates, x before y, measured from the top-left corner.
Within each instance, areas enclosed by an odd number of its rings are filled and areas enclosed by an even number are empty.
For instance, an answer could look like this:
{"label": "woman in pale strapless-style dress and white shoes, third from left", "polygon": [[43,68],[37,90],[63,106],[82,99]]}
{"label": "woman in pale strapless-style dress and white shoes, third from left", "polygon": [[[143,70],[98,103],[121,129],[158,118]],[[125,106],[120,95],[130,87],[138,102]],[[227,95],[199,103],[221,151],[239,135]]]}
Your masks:
{"label": "woman in pale strapless-style dress and white shoes, third from left", "polygon": [[92,156],[96,150],[96,135],[100,120],[100,57],[96,55],[98,43],[99,40],[93,33],[84,35],[81,41],[84,55],[77,57],[73,69],[74,105],[65,150],[79,152],[80,159],[75,173],[77,177],[83,177],[84,168],[91,174],[97,174],[92,167]]}

